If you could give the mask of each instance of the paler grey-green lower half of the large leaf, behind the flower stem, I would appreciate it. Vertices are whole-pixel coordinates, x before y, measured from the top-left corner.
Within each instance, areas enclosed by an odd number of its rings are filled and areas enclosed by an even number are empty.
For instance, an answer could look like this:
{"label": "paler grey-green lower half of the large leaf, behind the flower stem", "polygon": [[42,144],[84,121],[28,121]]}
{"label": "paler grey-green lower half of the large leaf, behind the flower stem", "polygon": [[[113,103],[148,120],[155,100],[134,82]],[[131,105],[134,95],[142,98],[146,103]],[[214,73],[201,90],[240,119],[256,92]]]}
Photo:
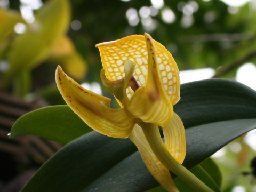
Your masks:
{"label": "paler grey-green lower half of the large leaf, behind the flower stem", "polygon": [[[194,167],[225,146],[227,142],[255,127],[256,118],[223,121],[187,129],[187,155],[183,165],[188,169]],[[197,134],[200,132],[202,134]],[[109,178],[113,181],[109,182]],[[157,185],[158,183],[151,177],[141,161],[139,153],[135,153],[111,167],[108,172],[101,175],[84,191],[90,191],[94,188],[98,188],[98,191],[121,191],[122,189],[126,189],[125,191],[146,191]]]}

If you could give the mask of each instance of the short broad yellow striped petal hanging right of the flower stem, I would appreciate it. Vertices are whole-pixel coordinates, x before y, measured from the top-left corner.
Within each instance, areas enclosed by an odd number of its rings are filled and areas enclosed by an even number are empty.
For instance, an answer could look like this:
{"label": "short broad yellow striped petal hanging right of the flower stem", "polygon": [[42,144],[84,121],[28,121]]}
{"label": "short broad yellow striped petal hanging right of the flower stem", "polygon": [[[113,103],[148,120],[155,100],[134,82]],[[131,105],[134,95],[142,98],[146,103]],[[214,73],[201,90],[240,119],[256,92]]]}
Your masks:
{"label": "short broad yellow striped petal hanging right of the flower stem", "polygon": [[186,156],[186,138],[180,117],[173,113],[171,121],[162,129],[167,150],[177,162],[182,164]]}

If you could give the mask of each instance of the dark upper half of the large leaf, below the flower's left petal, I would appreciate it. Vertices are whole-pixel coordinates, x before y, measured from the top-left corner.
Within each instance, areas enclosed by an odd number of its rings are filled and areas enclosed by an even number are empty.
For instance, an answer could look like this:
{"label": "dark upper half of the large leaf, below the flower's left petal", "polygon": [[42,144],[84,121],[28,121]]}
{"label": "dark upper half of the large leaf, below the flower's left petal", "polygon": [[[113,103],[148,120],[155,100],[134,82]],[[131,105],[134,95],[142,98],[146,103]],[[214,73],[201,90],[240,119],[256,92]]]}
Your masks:
{"label": "dark upper half of the large leaf, below the flower's left petal", "polygon": [[136,150],[129,139],[92,131],[60,149],[62,152],[50,158],[23,191],[81,191]]}

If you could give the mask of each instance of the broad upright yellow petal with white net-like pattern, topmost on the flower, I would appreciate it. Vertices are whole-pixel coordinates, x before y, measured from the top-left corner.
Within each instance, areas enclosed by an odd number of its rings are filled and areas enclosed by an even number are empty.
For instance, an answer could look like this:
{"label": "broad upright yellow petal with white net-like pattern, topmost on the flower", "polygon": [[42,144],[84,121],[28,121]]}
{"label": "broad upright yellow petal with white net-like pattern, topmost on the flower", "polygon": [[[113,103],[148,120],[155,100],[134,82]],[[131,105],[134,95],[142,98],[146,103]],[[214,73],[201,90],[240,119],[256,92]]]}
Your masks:
{"label": "broad upright yellow petal with white net-like pattern, topmost on the flower", "polygon": [[[179,69],[171,53],[154,40],[156,47],[156,59],[159,75],[172,105],[180,99]],[[116,41],[97,44],[101,62],[109,80],[117,80],[124,77],[124,62],[132,60],[137,65],[134,69],[134,78],[140,86],[146,84],[148,74],[148,53],[145,36],[131,35]],[[132,89],[128,89],[127,96],[131,98]]]}

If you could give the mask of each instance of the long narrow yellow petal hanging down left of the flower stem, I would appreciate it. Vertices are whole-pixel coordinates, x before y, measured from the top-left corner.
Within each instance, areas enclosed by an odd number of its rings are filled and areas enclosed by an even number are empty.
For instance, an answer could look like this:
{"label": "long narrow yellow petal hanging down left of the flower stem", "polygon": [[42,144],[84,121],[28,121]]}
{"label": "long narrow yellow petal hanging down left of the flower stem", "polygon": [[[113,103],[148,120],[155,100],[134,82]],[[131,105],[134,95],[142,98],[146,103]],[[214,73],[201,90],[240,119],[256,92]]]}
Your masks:
{"label": "long narrow yellow petal hanging down left of the flower stem", "polygon": [[169,170],[157,159],[151,150],[148,141],[139,125],[135,125],[129,135],[131,141],[137,146],[143,162],[153,177],[170,192],[179,191],[175,186]]}

